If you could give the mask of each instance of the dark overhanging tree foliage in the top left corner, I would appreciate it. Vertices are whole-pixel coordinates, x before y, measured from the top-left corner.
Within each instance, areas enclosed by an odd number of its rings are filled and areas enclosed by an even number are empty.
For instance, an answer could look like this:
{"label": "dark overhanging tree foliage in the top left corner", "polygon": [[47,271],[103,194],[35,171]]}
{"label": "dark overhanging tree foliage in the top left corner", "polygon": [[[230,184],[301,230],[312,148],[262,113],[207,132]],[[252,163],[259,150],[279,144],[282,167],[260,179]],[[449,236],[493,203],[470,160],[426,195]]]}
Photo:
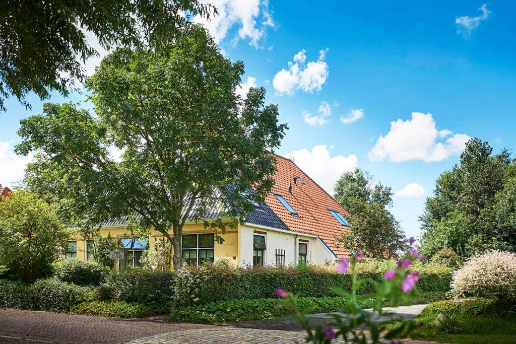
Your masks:
{"label": "dark overhanging tree foliage in the top left corner", "polygon": [[122,45],[158,47],[188,22],[182,14],[209,18],[216,10],[197,0],[10,1],[0,12],[0,110],[14,95],[26,107],[29,92],[42,100],[67,95],[85,79],[79,61],[99,56],[88,35],[106,50]]}

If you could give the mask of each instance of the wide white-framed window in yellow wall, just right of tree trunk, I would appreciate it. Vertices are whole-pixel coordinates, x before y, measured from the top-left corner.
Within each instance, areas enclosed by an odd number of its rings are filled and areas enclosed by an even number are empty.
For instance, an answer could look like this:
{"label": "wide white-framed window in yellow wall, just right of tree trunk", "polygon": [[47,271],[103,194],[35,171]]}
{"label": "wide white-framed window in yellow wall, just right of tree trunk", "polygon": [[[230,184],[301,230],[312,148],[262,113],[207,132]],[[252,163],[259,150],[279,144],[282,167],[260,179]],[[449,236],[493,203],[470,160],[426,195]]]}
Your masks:
{"label": "wide white-framed window in yellow wall, just right of tree trunk", "polygon": [[215,260],[215,234],[183,234],[182,257],[187,265],[202,264]]}

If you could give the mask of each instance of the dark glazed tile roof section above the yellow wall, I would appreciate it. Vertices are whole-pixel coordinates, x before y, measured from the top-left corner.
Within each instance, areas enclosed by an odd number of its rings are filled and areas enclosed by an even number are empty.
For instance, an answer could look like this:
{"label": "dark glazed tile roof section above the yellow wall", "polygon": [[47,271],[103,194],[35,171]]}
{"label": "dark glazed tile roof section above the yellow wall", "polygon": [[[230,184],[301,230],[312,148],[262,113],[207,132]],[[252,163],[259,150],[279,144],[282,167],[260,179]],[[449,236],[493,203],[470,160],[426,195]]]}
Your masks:
{"label": "dark glazed tile roof section above the yellow wall", "polygon": [[[231,189],[232,187],[228,187]],[[250,189],[250,192],[254,192],[254,190]],[[206,215],[201,216],[203,219],[216,219],[218,217],[223,217],[225,210],[227,210],[227,207],[230,206],[228,201],[223,201],[222,199],[222,193],[220,190],[214,191],[214,198],[217,199],[217,201],[213,202],[211,206],[209,206],[209,211]],[[193,206],[192,210],[195,210],[196,206],[199,206],[201,201],[197,201],[197,204]],[[129,217],[124,216],[120,219],[109,219],[105,222],[102,222],[100,226],[109,226],[109,225],[124,225],[128,222]],[[273,228],[279,228],[281,230],[289,230],[287,225],[283,223],[283,221],[276,215],[274,211],[266,204],[261,203],[259,206],[257,206],[253,211],[251,211],[246,216],[246,222],[253,223],[253,224],[259,224],[263,226],[269,226]]]}

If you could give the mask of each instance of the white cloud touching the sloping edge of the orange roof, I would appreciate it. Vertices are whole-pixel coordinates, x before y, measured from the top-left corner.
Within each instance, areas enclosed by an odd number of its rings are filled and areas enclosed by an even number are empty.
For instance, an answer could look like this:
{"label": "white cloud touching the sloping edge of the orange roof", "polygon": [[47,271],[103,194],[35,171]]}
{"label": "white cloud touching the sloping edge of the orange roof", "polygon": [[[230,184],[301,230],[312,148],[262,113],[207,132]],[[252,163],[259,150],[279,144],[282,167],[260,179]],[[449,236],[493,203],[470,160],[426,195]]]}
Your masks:
{"label": "white cloud touching the sloping edge of the orange roof", "polygon": [[292,151],[286,157],[293,157],[296,165],[328,193],[333,194],[337,179],[357,168],[358,158],[354,154],[331,156],[326,144],[315,145],[312,151],[302,149]]}

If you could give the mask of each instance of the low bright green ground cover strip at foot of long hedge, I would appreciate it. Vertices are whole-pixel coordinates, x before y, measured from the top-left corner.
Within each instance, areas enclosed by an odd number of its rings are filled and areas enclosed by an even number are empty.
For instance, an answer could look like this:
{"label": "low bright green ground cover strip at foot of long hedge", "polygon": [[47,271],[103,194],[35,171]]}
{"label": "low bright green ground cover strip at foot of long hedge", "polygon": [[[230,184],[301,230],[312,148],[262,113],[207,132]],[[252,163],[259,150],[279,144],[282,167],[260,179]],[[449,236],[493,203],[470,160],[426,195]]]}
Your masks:
{"label": "low bright green ground cover strip at foot of long hedge", "polygon": [[[313,313],[329,313],[342,309],[347,299],[340,297],[298,298],[299,308],[313,307]],[[218,324],[260,320],[291,314],[282,299],[255,299],[212,302],[202,306],[172,307],[170,320],[177,322]]]}

